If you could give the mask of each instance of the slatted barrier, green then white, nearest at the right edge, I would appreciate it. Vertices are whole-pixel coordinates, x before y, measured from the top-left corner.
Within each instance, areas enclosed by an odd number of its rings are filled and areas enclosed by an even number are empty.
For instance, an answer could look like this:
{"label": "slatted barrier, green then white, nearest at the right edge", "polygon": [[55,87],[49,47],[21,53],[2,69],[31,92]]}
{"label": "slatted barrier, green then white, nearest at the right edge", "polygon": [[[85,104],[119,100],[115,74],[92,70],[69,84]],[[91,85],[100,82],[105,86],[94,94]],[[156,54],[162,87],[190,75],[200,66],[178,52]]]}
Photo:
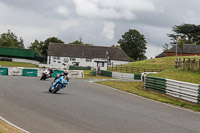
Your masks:
{"label": "slatted barrier, green then white, nearest at the right edge", "polygon": [[198,84],[147,76],[145,88],[186,101],[200,103],[200,85]]}

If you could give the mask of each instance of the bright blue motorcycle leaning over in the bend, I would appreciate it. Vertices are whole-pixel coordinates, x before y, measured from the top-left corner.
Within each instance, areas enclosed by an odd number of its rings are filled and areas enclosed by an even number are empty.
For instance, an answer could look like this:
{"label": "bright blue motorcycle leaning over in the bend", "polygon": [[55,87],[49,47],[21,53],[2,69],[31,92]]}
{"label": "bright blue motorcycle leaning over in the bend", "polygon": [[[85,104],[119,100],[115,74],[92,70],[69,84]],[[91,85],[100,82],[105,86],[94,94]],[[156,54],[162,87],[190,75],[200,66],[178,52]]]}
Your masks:
{"label": "bright blue motorcycle leaning over in the bend", "polygon": [[68,79],[64,76],[60,76],[55,81],[52,82],[51,86],[49,87],[49,92],[55,94],[59,90],[66,87],[68,84]]}

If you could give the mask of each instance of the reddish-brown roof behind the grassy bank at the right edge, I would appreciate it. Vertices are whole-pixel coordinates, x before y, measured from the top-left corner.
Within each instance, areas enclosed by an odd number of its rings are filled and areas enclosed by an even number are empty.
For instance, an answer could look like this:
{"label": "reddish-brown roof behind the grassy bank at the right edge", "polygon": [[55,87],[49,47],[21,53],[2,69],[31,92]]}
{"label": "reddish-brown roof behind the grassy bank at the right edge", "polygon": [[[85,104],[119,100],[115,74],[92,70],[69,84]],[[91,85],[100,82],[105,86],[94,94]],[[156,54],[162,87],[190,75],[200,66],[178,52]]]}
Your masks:
{"label": "reddish-brown roof behind the grassy bank at the right edge", "polygon": [[[176,46],[173,46],[170,48],[166,53],[174,53],[176,52]],[[181,49],[178,47],[177,52],[180,53]],[[183,54],[197,54],[200,52],[200,45],[195,45],[195,44],[184,44],[183,47]]]}

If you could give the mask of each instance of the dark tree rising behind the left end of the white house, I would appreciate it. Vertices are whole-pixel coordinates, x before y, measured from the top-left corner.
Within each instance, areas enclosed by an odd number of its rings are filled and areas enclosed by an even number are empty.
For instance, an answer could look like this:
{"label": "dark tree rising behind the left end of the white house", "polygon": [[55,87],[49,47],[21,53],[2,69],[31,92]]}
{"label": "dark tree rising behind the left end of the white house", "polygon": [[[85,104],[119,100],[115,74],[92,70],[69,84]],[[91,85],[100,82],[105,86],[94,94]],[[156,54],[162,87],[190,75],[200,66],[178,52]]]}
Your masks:
{"label": "dark tree rising behind the left end of the white house", "polygon": [[40,42],[40,50],[41,50],[41,54],[44,55],[45,57],[47,57],[47,49],[49,46],[49,43],[64,43],[62,40],[58,39],[57,37],[49,37],[47,38],[44,42],[41,41]]}

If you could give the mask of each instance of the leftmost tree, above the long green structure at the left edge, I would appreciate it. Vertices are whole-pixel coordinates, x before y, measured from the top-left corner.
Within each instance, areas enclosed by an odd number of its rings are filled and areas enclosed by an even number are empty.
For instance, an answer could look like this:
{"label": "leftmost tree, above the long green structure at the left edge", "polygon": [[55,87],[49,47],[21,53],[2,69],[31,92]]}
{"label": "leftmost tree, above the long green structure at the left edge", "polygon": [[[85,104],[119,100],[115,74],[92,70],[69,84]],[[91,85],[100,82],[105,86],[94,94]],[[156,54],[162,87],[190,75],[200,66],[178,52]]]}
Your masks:
{"label": "leftmost tree, above the long green structure at the left edge", "polygon": [[8,30],[7,33],[1,34],[0,46],[8,48],[24,48],[24,41],[22,37],[20,37],[18,40],[17,36]]}

